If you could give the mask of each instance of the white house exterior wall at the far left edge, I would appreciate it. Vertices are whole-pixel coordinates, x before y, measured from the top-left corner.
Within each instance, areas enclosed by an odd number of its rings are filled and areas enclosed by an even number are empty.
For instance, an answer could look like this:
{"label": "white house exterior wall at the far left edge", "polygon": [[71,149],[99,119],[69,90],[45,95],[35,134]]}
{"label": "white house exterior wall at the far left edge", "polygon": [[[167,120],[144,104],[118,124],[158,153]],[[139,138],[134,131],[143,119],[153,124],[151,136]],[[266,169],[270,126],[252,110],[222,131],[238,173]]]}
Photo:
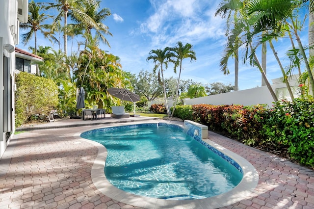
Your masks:
{"label": "white house exterior wall at the far left edge", "polygon": [[[9,144],[15,129],[13,86],[14,48],[18,44],[19,36],[18,5],[27,8],[27,0],[1,0],[0,2],[0,157]],[[24,9],[23,13],[25,21],[28,11]]]}

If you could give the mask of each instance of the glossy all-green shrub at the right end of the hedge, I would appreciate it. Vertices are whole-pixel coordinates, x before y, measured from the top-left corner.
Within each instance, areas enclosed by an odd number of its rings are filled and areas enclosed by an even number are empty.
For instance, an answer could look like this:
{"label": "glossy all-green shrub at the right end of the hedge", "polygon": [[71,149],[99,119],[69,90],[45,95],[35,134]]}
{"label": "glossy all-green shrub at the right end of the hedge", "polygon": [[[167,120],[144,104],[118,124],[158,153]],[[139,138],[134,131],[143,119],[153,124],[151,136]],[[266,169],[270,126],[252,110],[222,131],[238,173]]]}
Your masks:
{"label": "glossy all-green shrub at the right end of the hedge", "polygon": [[314,166],[314,101],[294,99],[278,101],[263,113],[264,143],[277,150],[288,149],[289,157]]}

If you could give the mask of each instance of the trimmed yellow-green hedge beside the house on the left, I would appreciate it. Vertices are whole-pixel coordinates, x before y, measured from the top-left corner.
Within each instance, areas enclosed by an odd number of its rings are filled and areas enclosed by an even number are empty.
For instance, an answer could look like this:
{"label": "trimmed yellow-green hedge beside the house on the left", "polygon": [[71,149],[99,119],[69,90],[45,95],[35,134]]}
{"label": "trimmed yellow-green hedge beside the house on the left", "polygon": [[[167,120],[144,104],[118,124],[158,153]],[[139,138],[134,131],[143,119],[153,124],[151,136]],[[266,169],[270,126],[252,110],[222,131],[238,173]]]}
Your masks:
{"label": "trimmed yellow-green hedge beside the house on the left", "polygon": [[16,126],[24,124],[32,115],[48,115],[58,105],[58,86],[52,79],[20,72],[16,75]]}

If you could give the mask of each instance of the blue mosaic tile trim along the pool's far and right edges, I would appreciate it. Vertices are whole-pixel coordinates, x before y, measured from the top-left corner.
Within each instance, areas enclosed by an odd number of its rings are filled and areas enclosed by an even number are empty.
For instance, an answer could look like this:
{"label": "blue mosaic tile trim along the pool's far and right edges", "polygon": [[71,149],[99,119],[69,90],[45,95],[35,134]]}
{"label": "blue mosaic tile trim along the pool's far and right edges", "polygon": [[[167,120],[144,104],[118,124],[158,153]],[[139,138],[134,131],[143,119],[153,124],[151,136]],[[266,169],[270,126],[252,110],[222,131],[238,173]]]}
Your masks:
{"label": "blue mosaic tile trim along the pool's far and right edges", "polygon": [[[204,142],[202,140],[202,134],[198,134],[194,136],[194,131],[198,130],[199,133],[201,133],[201,128],[191,124],[192,126],[188,129],[187,134],[192,136],[196,141],[198,141],[199,143],[201,143],[202,145],[204,145],[205,147],[207,147],[209,150],[211,150],[213,153],[215,153],[216,155],[218,155],[219,157],[223,158],[224,160],[226,160],[227,162],[229,162],[230,164],[232,164],[233,166],[235,166],[235,168],[237,170],[239,170],[242,174],[243,174],[243,170],[241,168],[241,166],[231,157],[223,154],[222,152],[220,152],[219,150],[215,149],[214,147],[210,146],[209,144],[207,144],[206,142]],[[134,129],[134,128],[139,128],[139,127],[158,127],[158,126],[167,126],[167,127],[171,127],[173,129],[179,129],[181,131],[183,131],[183,128],[175,125],[175,124],[169,124],[169,123],[147,123],[147,124],[136,124],[136,125],[127,125],[127,126],[116,126],[116,127],[108,127],[108,128],[102,128],[102,129],[94,129],[94,130],[90,130],[90,131],[86,131],[80,134],[80,137],[84,138],[84,136],[90,134],[90,133],[95,133],[95,132],[105,132],[108,130],[127,130],[127,129]]]}

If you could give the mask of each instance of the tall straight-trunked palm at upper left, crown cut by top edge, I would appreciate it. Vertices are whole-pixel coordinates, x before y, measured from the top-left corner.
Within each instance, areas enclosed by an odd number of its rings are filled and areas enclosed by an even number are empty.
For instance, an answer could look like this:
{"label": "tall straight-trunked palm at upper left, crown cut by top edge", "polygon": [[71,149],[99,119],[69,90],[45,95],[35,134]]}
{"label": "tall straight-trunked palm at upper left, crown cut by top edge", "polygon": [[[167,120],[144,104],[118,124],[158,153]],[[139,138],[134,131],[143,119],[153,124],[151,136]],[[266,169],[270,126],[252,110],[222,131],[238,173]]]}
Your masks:
{"label": "tall straight-trunked palm at upper left, crown cut by top edge", "polygon": [[76,15],[81,13],[80,5],[86,3],[88,5],[97,5],[96,0],[56,0],[56,3],[47,3],[48,6],[46,9],[55,8],[59,12],[59,14],[55,18],[55,22],[61,20],[63,18],[63,40],[64,40],[64,53],[67,55],[67,40],[68,40],[68,31],[67,31],[67,21],[68,21],[68,13],[71,11],[71,14]]}

